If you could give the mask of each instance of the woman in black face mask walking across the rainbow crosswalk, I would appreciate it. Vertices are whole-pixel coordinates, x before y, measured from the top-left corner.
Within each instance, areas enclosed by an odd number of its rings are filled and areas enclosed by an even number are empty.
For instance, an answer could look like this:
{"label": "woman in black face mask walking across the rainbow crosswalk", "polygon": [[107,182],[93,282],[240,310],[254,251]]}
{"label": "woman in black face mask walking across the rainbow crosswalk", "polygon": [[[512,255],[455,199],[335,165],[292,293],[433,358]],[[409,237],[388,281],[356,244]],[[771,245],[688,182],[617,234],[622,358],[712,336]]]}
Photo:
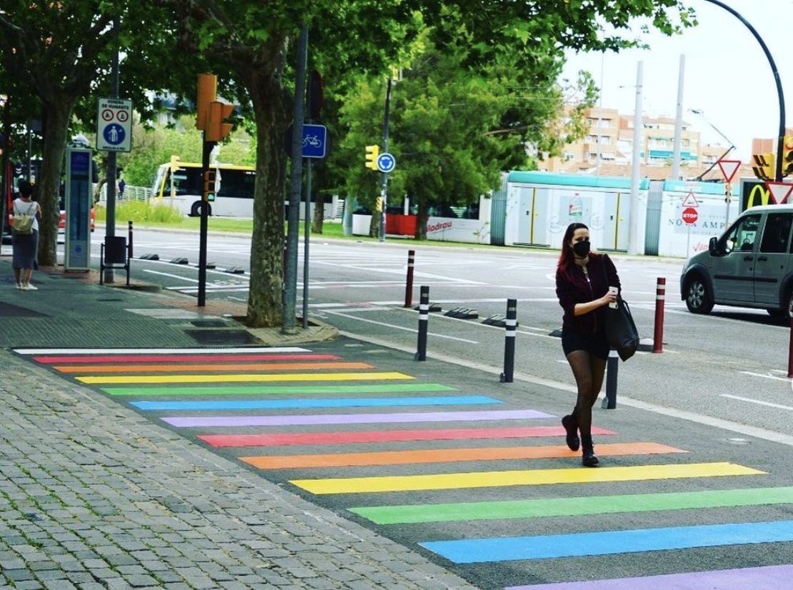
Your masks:
{"label": "woman in black face mask walking across the rainbow crosswalk", "polygon": [[[609,287],[616,287],[610,289]],[[561,347],[573,370],[578,388],[576,407],[561,419],[570,450],[582,448],[582,462],[596,467],[592,445],[592,405],[603,385],[609,344],[605,331],[605,306],[616,301],[619,276],[614,262],[605,254],[590,251],[589,229],[569,224],[561,244],[556,271],[556,294],[565,310]],[[579,438],[580,432],[580,438]]]}

